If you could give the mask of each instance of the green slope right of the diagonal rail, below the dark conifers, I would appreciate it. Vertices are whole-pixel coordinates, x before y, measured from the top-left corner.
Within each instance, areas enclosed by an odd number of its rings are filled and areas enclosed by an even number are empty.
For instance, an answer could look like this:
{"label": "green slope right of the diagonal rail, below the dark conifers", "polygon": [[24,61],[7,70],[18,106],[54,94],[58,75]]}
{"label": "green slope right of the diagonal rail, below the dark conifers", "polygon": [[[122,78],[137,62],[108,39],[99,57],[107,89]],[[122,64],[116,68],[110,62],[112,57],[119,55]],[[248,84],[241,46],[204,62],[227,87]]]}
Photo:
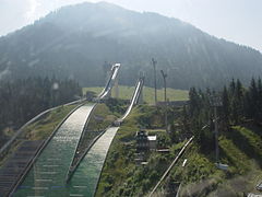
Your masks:
{"label": "green slope right of the diagonal rail, below the dark conifers", "polygon": [[253,130],[236,126],[231,130],[234,135],[222,134],[221,161],[229,165],[227,172],[217,170],[213,155],[201,153],[193,144],[183,155],[183,159],[188,159],[188,165],[182,167],[180,160],[169,177],[174,182],[182,182],[181,196],[242,196],[243,192],[258,193],[254,186],[262,179],[262,138]]}

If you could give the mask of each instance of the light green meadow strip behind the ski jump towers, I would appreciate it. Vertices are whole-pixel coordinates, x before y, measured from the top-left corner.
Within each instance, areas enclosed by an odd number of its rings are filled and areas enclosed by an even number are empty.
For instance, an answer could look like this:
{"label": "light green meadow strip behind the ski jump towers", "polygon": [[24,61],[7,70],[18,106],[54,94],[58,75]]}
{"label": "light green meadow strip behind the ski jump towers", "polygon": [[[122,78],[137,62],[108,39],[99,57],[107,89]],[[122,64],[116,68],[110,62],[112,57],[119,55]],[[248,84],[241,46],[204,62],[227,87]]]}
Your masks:
{"label": "light green meadow strip behind the ski jump towers", "polygon": [[[93,91],[95,93],[102,92],[104,88],[83,88],[83,93],[85,94],[86,91]],[[122,100],[130,100],[134,91],[134,86],[123,86],[119,85],[119,99]],[[112,89],[112,96],[115,96],[115,89]],[[143,100],[148,103],[154,103],[154,89],[144,86],[143,89]],[[175,89],[167,89],[167,99],[169,101],[187,101],[188,100],[188,91],[186,90],[175,90]],[[164,89],[157,90],[157,101],[164,101]]]}

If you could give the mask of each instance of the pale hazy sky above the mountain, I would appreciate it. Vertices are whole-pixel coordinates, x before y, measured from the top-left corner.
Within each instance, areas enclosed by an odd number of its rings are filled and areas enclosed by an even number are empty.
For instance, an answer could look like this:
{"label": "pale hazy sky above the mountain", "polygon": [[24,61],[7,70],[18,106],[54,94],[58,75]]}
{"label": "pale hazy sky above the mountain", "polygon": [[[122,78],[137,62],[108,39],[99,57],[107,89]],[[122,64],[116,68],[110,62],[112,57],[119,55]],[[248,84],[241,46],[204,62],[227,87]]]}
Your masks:
{"label": "pale hazy sky above the mountain", "polygon": [[[0,35],[66,4],[84,0],[0,0]],[[107,0],[136,11],[153,11],[262,51],[262,0]],[[97,2],[97,0],[90,0]]]}

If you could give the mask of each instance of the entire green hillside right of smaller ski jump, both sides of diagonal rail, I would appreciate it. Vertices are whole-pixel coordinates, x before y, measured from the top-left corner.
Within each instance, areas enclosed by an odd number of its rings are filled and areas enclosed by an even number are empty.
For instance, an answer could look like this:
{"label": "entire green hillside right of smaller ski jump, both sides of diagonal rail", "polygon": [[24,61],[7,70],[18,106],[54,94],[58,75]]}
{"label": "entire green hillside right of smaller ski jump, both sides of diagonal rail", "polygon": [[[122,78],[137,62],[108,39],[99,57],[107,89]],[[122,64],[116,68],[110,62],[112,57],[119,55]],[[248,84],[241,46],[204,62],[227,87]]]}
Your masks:
{"label": "entire green hillside right of smaller ski jump, both sides of diagonal rail", "polygon": [[[143,119],[154,114],[154,107],[139,106],[121,126],[109,149],[96,196],[143,196],[159,179],[182,143],[171,144],[170,154],[152,153],[144,167],[135,165],[135,131]],[[182,182],[182,196],[255,192],[254,186],[262,179],[262,138],[257,130],[260,129],[236,126],[230,134],[221,135],[221,161],[229,165],[227,172],[215,167],[213,150],[206,154],[191,144],[164,182],[164,188],[168,182]],[[165,135],[162,130],[157,134]],[[186,167],[181,166],[183,159],[188,159]]]}

